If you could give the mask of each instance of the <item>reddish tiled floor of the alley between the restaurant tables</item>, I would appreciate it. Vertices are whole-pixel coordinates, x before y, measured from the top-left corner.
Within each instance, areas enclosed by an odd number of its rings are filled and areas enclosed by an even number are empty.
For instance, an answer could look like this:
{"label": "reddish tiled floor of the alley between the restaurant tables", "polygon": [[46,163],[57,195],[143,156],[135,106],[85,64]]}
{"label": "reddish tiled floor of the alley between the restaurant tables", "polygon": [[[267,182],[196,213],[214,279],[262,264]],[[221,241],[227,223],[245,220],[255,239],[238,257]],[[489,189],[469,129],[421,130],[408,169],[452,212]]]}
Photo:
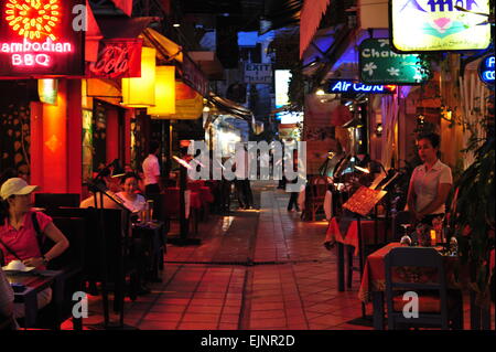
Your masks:
{"label": "reddish tiled floor of the alley between the restaurant tables", "polygon": [[[289,196],[271,184],[254,191],[258,210],[211,215],[200,226],[201,245],[168,245],[162,282],[134,302],[126,300],[126,324],[148,330],[371,329],[349,323],[362,316],[358,275],[352,290],[337,291],[335,253],[322,245],[327,223],[300,221],[299,213],[285,210]],[[90,296],[85,327],[101,322],[101,311],[100,298]]]}

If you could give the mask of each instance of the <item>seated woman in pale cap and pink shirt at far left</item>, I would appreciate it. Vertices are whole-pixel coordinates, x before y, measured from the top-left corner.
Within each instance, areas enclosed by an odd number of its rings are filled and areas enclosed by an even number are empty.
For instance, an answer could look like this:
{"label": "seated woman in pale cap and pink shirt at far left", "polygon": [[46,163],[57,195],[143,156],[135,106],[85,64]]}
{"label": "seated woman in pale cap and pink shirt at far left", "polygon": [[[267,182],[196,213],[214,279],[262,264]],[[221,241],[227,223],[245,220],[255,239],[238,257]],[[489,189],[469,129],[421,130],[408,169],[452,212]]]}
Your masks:
{"label": "seated woman in pale cap and pink shirt at far left", "polygon": [[[22,179],[12,178],[0,189],[0,250],[4,265],[18,259],[28,267],[45,269],[48,262],[58,257],[69,245],[64,234],[53,224],[52,217],[31,210],[31,193],[36,188],[28,185]],[[45,235],[55,243],[46,253],[41,253],[40,235]],[[51,300],[51,288],[37,294],[39,308],[43,308]],[[15,305],[14,318],[21,318],[23,314],[23,305]]]}

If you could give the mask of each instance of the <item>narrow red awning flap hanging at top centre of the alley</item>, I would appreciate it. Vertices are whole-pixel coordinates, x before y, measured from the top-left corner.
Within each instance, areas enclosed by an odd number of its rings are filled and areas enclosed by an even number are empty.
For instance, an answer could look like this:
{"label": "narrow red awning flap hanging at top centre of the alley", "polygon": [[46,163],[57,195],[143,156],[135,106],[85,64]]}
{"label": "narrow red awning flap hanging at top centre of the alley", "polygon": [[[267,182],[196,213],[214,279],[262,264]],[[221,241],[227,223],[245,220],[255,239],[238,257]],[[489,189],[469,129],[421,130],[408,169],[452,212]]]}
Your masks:
{"label": "narrow red awning flap hanging at top centre of the alley", "polygon": [[331,0],[305,0],[300,20],[300,58],[312,42]]}

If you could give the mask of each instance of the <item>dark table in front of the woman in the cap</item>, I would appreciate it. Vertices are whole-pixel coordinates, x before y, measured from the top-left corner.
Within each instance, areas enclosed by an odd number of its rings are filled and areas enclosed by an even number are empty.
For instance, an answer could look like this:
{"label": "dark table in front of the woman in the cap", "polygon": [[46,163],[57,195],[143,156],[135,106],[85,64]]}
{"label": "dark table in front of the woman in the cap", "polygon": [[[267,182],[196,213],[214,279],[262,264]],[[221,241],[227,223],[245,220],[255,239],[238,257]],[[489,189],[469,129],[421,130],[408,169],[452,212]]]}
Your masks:
{"label": "dark table in front of the woman in the cap", "polygon": [[[12,274],[6,271],[7,279],[12,284],[24,286],[24,290],[14,291],[14,302],[24,303],[24,324],[32,328],[36,323],[37,317],[37,294],[52,287],[52,301],[56,305],[57,311],[61,310],[64,280],[63,270],[33,270],[33,274]],[[58,319],[58,317],[54,317]],[[58,323],[58,321],[57,321]]]}

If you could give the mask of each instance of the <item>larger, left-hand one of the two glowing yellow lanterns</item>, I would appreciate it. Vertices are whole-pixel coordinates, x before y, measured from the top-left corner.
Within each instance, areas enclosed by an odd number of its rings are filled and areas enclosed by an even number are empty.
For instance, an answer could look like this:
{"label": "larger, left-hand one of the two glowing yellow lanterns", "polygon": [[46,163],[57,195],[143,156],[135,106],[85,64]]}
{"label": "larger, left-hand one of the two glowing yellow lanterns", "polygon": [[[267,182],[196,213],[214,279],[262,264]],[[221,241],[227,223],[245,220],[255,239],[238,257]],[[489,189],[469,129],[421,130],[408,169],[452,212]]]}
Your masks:
{"label": "larger, left-hand one of the two glowing yellow lanterns", "polygon": [[152,47],[142,47],[141,77],[122,78],[122,105],[150,107],[155,105],[155,54]]}

